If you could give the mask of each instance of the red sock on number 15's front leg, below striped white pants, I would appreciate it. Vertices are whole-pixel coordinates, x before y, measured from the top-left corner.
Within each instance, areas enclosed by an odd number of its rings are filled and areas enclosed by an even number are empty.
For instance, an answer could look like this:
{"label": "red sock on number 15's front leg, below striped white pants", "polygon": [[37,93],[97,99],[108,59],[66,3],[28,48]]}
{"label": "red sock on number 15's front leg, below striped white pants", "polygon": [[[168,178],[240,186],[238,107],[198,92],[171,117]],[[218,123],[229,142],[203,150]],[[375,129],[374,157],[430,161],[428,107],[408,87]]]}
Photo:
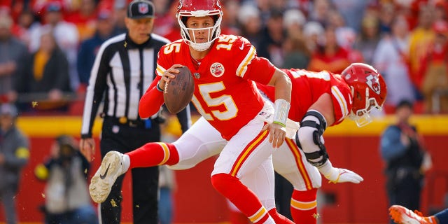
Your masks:
{"label": "red sock on number 15's front leg, below striped white pants", "polygon": [[235,176],[215,174],[211,176],[211,184],[218,193],[235,204],[235,207],[246,215],[252,223],[264,223],[269,218],[269,214],[258,197]]}

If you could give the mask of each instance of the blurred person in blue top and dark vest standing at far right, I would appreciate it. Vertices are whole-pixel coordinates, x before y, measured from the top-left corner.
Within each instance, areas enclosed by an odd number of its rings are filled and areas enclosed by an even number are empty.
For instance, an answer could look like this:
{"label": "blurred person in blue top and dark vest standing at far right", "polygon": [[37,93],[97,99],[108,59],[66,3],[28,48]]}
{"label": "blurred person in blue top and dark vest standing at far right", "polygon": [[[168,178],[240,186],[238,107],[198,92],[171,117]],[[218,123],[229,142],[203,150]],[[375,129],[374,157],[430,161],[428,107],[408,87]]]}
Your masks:
{"label": "blurred person in blue top and dark vest standing at far right", "polygon": [[381,136],[381,157],[386,162],[386,191],[389,204],[420,210],[423,178],[432,166],[423,138],[409,123],[413,105],[407,100],[398,103],[396,123]]}

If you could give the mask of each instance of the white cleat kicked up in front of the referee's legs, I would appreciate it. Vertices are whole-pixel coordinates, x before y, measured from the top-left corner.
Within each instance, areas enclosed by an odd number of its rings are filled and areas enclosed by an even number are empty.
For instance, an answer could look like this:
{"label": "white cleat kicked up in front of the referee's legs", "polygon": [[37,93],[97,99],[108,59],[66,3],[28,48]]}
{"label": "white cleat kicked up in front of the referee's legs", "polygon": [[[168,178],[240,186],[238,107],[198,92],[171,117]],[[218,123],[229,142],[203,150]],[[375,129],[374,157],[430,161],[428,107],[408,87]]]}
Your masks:
{"label": "white cleat kicked up in front of the referee's legs", "polygon": [[124,172],[123,154],[117,151],[106,153],[101,166],[90,181],[89,191],[92,200],[102,203],[111,193],[113,184]]}

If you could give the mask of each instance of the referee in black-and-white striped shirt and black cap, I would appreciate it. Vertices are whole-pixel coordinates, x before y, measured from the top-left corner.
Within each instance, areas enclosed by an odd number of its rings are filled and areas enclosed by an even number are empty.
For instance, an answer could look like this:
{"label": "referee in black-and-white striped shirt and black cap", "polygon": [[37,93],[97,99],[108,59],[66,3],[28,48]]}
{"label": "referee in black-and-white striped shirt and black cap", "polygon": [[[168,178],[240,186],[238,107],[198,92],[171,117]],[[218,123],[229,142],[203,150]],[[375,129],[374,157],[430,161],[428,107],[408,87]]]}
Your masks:
{"label": "referee in black-and-white striped shirt and black cap", "polygon": [[[127,153],[150,141],[160,141],[162,119],[155,115],[141,120],[138,115],[139,100],[155,78],[158,51],[169,43],[152,34],[154,11],[150,1],[130,2],[125,18],[127,33],[110,38],[99,49],[87,87],[81,130],[80,151],[87,160],[93,160],[92,125],[103,99],[102,158],[112,150]],[[178,119],[186,131],[190,125],[188,107]],[[133,223],[158,223],[158,176],[158,167],[132,169]],[[99,204],[100,223],[120,223],[123,178],[117,179],[108,199]]]}

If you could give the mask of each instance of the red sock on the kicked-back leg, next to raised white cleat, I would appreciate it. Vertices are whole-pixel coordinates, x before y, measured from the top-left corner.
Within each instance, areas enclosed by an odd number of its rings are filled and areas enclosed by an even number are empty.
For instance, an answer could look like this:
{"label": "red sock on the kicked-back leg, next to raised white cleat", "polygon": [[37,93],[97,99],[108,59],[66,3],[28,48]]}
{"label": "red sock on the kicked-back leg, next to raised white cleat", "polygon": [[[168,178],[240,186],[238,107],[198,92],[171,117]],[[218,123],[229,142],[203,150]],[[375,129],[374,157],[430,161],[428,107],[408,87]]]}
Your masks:
{"label": "red sock on the kicked-back leg, next to raised white cleat", "polygon": [[158,165],[175,165],[179,162],[179,153],[173,144],[150,142],[126,153],[129,155],[130,169],[136,167],[155,167]]}

